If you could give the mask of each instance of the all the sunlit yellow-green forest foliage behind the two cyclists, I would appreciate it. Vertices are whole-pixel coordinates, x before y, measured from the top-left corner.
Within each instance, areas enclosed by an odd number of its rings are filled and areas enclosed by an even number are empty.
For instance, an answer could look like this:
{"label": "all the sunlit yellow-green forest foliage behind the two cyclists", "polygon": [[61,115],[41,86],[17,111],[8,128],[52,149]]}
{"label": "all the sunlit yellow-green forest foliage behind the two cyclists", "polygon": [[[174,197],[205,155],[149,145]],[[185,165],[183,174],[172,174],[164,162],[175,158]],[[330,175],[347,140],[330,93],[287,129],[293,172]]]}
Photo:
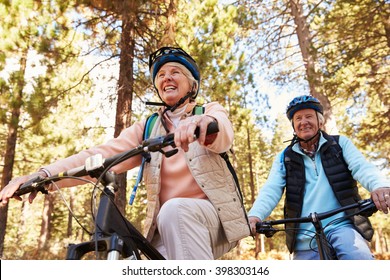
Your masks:
{"label": "all the sunlit yellow-green forest foliage behind the two cyclists", "polygon": [[[107,131],[99,126],[101,116],[94,111],[102,103],[115,101],[115,91],[101,92],[101,102],[93,101],[97,90],[88,78],[81,54],[93,54],[99,65],[106,60],[117,64],[122,16],[134,16],[133,120],[150,114],[141,101],[157,98],[149,80],[147,55],[165,44],[167,38],[173,38],[170,43],[193,55],[201,68],[199,102],[219,101],[229,112],[235,130],[230,159],[249,210],[274,157],[292,132],[283,112],[275,122],[269,122],[268,96],[259,89],[259,73],[287,88],[285,91],[307,91],[295,25],[286,1],[237,1],[237,5],[222,5],[216,0],[174,1],[175,7],[169,6],[169,1],[109,1],[109,7],[103,7],[108,3],[105,2],[0,2],[1,150],[5,149],[6,125],[14,121],[9,108],[22,109],[14,175],[30,173],[102,142]],[[130,2],[136,4],[135,8],[128,14],[121,13]],[[321,88],[343,124],[340,131],[386,167],[390,158],[390,95],[384,2],[337,0],[317,5],[318,1],[303,1],[303,5],[315,39],[311,47],[319,58],[316,65],[322,75]],[[91,9],[91,5],[95,8]],[[23,55],[26,73],[34,75],[26,76],[18,67]],[[99,71],[98,78],[116,81],[116,74]],[[23,99],[18,100],[15,97],[21,88]],[[129,178],[128,193],[133,181]],[[62,190],[66,201],[72,202],[75,216],[89,230],[93,229],[91,190],[90,185]],[[49,250],[36,251],[44,205],[44,196],[38,196],[32,205],[16,201],[10,204],[5,258],[61,259],[67,243],[89,239],[74,220],[71,233],[67,232],[68,210],[59,192],[53,195]],[[146,190],[141,185],[134,205],[126,208],[126,217],[140,231],[146,215],[145,200]],[[282,204],[270,218],[282,217]],[[372,221],[383,236],[388,236],[388,220],[383,215],[374,216]],[[265,244],[269,253],[258,258],[285,258],[283,234],[266,239]],[[225,258],[254,258],[252,239],[243,240],[240,246],[244,253],[237,249]]]}

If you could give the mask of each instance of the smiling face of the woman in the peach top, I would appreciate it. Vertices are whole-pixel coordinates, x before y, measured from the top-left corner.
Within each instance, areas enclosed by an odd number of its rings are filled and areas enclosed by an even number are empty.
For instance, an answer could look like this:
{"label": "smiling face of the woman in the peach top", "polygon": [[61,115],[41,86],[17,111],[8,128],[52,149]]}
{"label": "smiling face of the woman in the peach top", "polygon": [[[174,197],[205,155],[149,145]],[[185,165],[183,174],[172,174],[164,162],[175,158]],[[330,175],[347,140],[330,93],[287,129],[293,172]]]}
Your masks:
{"label": "smiling face of the woman in the peach top", "polygon": [[169,106],[175,105],[191,90],[189,79],[179,66],[172,63],[166,63],[160,68],[155,83],[161,99]]}

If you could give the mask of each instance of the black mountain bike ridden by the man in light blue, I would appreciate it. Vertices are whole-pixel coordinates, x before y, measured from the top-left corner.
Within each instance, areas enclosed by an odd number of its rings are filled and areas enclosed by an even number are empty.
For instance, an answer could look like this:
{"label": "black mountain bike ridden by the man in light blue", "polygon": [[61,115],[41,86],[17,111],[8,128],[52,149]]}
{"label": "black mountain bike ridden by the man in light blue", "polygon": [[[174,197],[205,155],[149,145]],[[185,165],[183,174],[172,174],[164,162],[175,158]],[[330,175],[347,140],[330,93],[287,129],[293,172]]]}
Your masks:
{"label": "black mountain bike ridden by the man in light blue", "polygon": [[[256,223],[256,232],[260,234],[264,234],[266,237],[270,238],[274,236],[276,232],[279,231],[286,231],[285,228],[275,228],[274,225],[285,225],[289,223],[312,223],[314,225],[315,231],[313,232],[313,235],[315,237],[315,240],[317,241],[318,246],[318,253],[320,255],[321,260],[336,260],[337,257],[335,256],[331,244],[327,240],[326,234],[324,232],[324,229],[326,226],[322,226],[322,220],[332,217],[338,213],[341,213],[346,210],[356,209],[352,214],[349,214],[346,217],[343,217],[342,219],[347,219],[350,216],[353,215],[362,215],[365,217],[370,217],[373,215],[378,209],[376,208],[374,202],[371,199],[363,199],[358,202],[355,202],[353,204],[342,206],[339,208],[336,208],[334,210],[330,210],[323,213],[310,213],[307,217],[300,217],[300,218],[287,218],[287,219],[280,219],[280,220],[268,220],[268,221],[262,221]],[[330,223],[335,223],[340,220],[334,220]],[[330,224],[329,223],[329,224]],[[329,225],[328,224],[328,225]],[[295,231],[299,231],[299,229],[292,229]]]}

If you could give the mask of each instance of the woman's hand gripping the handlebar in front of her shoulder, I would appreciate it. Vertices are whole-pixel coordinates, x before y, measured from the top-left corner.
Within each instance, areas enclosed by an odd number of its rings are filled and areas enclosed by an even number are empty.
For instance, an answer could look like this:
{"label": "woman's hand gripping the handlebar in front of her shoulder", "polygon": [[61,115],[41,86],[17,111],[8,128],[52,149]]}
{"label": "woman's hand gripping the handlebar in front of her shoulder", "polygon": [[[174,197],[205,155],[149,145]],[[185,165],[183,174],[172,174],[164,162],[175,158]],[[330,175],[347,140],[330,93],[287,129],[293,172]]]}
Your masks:
{"label": "woman's hand gripping the handlebar in front of her shoulder", "polygon": [[[201,145],[211,144],[215,140],[216,134],[213,135],[214,138],[211,135],[207,136],[206,141],[206,132],[208,125],[215,121],[216,119],[208,115],[195,115],[180,121],[174,132],[176,147],[181,147],[185,152],[188,152],[189,144],[196,140],[198,140]],[[194,134],[197,127],[199,127],[199,137],[196,139]]]}

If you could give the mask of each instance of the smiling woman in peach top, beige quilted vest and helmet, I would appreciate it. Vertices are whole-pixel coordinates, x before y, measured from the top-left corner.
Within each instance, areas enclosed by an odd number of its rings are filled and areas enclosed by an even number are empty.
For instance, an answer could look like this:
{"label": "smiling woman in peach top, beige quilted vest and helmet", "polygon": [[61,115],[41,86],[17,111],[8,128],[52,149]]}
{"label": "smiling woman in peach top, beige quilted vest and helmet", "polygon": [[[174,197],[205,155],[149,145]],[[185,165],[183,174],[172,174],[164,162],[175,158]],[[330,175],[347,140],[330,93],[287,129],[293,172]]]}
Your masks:
{"label": "smiling woman in peach top, beige quilted vest and helmet", "polygon": [[[220,153],[230,149],[233,128],[226,110],[218,103],[204,104],[194,115],[200,87],[195,60],[180,48],[163,47],[149,58],[153,85],[163,106],[150,137],[174,133],[178,152],[170,157],[152,153],[145,163],[147,217],[145,236],[167,259],[217,259],[250,234],[240,192]],[[206,137],[207,126],[217,122],[219,132]],[[138,146],[146,120],[134,123],[105,144],[42,167],[42,176],[83,165],[94,154],[108,158]],[[194,131],[199,127],[199,138]],[[142,156],[131,158],[112,170],[125,172],[140,166]],[[13,179],[0,192],[7,203],[18,187],[36,176]],[[63,180],[60,187],[79,182]],[[18,197],[17,197],[18,198]],[[19,198],[20,199],[20,198]],[[32,201],[31,195],[29,200]]]}

